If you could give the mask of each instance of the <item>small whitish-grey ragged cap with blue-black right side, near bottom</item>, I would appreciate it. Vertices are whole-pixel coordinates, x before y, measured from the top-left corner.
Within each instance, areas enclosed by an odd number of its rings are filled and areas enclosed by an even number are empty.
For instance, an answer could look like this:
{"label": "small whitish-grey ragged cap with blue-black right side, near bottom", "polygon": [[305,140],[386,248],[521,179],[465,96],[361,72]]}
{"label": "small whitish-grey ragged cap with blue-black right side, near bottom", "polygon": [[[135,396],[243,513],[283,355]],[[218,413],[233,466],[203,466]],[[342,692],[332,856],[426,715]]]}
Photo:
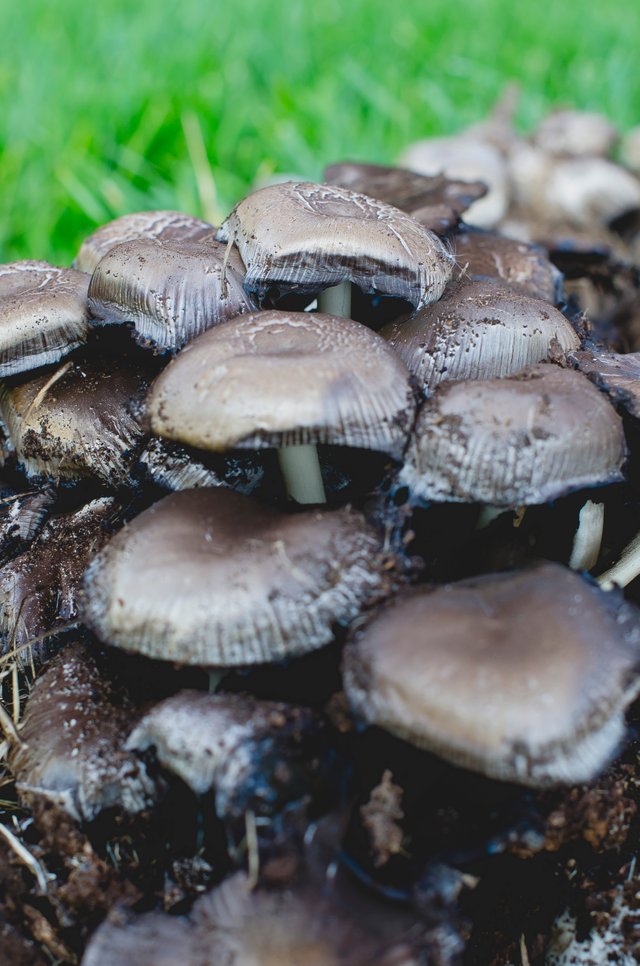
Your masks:
{"label": "small whitish-grey ragged cap with blue-black right side, near bottom", "polygon": [[162,767],[196,795],[213,789],[224,819],[243,819],[248,809],[272,815],[328,779],[320,716],[244,694],[180,691],[142,718],[126,747],[154,748]]}

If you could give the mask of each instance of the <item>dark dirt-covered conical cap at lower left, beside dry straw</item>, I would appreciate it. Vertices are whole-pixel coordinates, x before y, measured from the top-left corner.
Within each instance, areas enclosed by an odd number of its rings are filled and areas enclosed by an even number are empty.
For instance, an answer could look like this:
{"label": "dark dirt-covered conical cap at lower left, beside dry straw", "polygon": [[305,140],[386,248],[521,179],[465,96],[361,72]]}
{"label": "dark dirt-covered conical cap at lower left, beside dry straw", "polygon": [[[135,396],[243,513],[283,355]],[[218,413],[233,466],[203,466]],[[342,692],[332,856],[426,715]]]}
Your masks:
{"label": "dark dirt-covered conical cap at lower left, beside dry straw", "polygon": [[124,750],[139,717],[94,649],[68,645],[36,680],[10,767],[21,796],[44,797],[78,821],[105,808],[136,813],[155,798],[144,765]]}

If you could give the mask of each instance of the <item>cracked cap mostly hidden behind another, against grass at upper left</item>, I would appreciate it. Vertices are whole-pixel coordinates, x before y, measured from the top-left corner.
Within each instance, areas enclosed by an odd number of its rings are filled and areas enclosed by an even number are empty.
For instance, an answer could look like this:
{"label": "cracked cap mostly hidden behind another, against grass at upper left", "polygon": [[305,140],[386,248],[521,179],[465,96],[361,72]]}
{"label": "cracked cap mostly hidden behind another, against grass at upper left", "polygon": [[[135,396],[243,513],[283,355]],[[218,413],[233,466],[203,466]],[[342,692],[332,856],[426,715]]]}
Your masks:
{"label": "cracked cap mostly hidden behind another, against grass at upper left", "polygon": [[101,225],[85,238],[74,267],[81,272],[93,272],[112,248],[137,238],[159,242],[202,242],[212,239],[214,233],[213,225],[181,211],[138,211]]}

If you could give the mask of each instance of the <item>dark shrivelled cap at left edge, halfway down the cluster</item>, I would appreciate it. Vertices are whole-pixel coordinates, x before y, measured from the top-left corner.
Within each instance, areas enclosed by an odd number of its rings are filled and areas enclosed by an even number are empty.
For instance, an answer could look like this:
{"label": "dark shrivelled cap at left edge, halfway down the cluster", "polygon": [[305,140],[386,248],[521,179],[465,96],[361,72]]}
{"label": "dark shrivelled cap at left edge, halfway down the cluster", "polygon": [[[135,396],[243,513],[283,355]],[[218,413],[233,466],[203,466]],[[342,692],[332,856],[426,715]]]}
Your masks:
{"label": "dark shrivelled cap at left edge, halfway down the cluster", "polygon": [[89,560],[114,530],[110,497],[51,517],[19,557],[0,569],[0,642],[18,663],[46,652],[43,635],[77,620],[78,592]]}

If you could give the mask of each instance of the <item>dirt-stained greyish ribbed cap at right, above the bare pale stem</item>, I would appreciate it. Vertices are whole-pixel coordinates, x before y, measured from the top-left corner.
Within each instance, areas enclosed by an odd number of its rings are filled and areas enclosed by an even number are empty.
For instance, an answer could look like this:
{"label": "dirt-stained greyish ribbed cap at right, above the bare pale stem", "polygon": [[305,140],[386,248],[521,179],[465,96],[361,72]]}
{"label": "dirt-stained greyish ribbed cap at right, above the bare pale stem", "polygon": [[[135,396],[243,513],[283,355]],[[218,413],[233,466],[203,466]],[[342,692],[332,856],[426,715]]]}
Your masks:
{"label": "dirt-stained greyish ribbed cap at right, above the bare pale stem", "polygon": [[579,372],[534,366],[441,386],[418,414],[400,482],[418,501],[523,506],[622,479],[622,420]]}

